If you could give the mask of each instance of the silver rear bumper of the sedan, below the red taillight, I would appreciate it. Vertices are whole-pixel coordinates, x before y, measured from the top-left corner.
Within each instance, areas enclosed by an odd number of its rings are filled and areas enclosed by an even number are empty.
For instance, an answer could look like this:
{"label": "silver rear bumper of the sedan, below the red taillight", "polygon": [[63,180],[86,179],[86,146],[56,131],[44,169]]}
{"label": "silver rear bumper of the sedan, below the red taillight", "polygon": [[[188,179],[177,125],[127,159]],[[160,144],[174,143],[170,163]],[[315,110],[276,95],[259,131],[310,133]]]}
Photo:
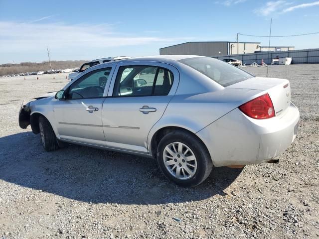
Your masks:
{"label": "silver rear bumper of the sedan, below the red taillight", "polygon": [[267,162],[294,141],[299,123],[294,104],[271,119],[252,119],[235,109],[196,134],[208,148],[214,166]]}

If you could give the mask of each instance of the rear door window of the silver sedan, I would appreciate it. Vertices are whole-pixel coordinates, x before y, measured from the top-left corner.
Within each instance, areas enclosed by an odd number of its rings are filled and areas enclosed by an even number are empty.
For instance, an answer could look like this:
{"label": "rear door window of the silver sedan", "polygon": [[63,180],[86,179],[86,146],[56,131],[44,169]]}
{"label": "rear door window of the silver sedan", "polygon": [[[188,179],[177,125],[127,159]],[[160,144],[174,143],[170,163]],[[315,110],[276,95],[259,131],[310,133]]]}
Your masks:
{"label": "rear door window of the silver sedan", "polygon": [[116,77],[113,96],[163,96],[169,93],[173,74],[157,66],[122,66]]}

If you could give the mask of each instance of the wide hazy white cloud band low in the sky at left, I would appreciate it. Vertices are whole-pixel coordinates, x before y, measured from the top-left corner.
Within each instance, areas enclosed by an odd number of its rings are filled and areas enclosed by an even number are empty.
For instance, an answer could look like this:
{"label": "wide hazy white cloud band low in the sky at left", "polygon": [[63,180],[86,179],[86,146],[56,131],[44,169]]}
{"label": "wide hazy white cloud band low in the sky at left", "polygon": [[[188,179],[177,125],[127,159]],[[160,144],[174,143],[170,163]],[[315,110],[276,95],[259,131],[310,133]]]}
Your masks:
{"label": "wide hazy white cloud band low in the sky at left", "polygon": [[[38,19],[37,21],[39,21]],[[32,52],[46,45],[57,50],[89,50],[118,46],[143,46],[150,43],[176,42],[191,37],[154,37],[119,33],[112,24],[18,23],[0,21],[0,52]]]}

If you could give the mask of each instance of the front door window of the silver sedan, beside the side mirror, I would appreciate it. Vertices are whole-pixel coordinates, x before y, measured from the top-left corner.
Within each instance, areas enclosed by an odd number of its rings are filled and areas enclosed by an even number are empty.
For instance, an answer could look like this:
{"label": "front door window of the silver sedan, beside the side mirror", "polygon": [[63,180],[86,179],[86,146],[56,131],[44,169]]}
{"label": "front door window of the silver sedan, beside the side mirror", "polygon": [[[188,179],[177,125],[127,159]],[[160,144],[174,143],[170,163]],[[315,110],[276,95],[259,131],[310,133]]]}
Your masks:
{"label": "front door window of the silver sedan, beside the side mirror", "polygon": [[103,97],[112,67],[89,72],[75,81],[69,88],[67,99]]}

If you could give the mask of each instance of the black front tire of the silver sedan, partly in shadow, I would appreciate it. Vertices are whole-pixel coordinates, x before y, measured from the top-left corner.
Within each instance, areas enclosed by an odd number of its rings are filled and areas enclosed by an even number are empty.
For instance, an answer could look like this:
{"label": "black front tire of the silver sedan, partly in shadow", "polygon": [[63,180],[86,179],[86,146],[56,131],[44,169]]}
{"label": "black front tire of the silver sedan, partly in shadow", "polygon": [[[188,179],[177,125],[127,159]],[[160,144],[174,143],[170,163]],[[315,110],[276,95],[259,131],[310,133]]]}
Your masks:
{"label": "black front tire of the silver sedan, partly in shadow", "polygon": [[39,131],[41,143],[45,151],[49,152],[59,148],[52,126],[43,116],[39,117]]}

